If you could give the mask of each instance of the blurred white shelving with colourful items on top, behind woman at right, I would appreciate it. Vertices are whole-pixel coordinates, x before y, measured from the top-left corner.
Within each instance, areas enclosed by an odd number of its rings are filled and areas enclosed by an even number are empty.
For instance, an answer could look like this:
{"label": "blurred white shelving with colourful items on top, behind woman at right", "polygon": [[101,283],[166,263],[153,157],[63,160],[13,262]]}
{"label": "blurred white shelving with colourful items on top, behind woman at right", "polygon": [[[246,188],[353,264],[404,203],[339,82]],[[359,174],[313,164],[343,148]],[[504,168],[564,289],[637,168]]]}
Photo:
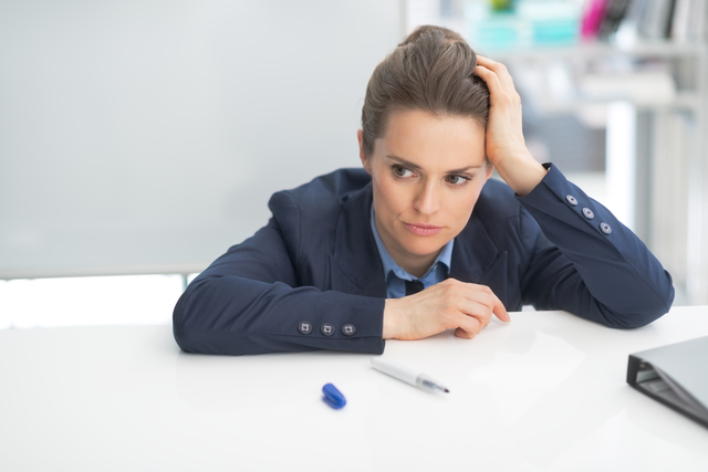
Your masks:
{"label": "blurred white shelving with colourful items on top, behind woman at right", "polygon": [[[586,14],[590,1],[520,0],[516,11],[501,12],[496,21],[487,0],[403,1],[406,31],[419,24],[447,25],[461,32],[477,51],[509,65],[524,101],[533,105],[524,108],[525,124],[533,120],[527,112],[535,109],[546,117],[576,114],[593,127],[604,127],[611,210],[674,275],[681,304],[708,304],[704,290],[708,285],[708,9],[704,1],[666,10],[656,7],[669,2],[637,0],[633,13],[620,13],[623,2],[613,1],[611,17],[622,20],[615,24],[621,30],[617,34],[603,29],[606,41],[581,41],[579,24],[577,43],[568,45],[553,45],[568,42],[559,41],[568,40],[563,19]],[[657,29],[662,22],[670,24],[670,34],[665,34],[664,27]],[[494,24],[498,29],[490,31]],[[675,93],[667,93],[667,86]],[[566,148],[579,154],[572,145]]]}

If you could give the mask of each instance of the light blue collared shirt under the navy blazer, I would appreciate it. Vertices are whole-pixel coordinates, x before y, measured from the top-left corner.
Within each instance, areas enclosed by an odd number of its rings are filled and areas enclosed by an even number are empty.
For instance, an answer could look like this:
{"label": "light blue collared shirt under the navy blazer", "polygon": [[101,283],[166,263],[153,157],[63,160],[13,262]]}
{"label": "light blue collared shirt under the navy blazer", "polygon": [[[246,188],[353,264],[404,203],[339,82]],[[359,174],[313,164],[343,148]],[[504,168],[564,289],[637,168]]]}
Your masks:
{"label": "light blue collared shirt under the navy blazer", "polygon": [[387,298],[400,298],[406,296],[406,281],[420,281],[425,289],[436,283],[442,282],[447,279],[447,274],[450,272],[450,261],[452,260],[452,245],[455,240],[451,240],[442,247],[442,250],[435,258],[435,261],[428,269],[428,271],[420,279],[410,275],[404,271],[400,265],[396,264],[394,258],[391,256],[388,250],[384,245],[384,242],[378,235],[376,229],[376,220],[374,219],[374,207],[372,206],[372,232],[374,233],[374,240],[376,240],[376,248],[378,248],[378,255],[381,262],[384,265],[384,276],[386,279],[386,297]]}

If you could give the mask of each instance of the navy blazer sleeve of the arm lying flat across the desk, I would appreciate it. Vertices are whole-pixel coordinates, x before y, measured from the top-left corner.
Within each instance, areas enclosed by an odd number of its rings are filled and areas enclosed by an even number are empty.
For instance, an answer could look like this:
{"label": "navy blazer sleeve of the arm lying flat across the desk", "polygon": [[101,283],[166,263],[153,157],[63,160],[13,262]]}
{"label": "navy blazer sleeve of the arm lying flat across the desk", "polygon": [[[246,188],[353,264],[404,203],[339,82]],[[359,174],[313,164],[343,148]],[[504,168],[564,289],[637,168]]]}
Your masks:
{"label": "navy blazer sleeve of the arm lying flat across the desk", "polygon": [[[272,200],[271,200],[272,203]],[[189,353],[264,354],[316,349],[381,354],[383,298],[300,286],[288,225],[296,239],[299,212],[292,200],[288,221],[271,218],[252,238],[217,259],[181,295],[173,329]],[[283,210],[283,209],[281,209]],[[308,329],[300,329],[302,323]],[[323,328],[330,324],[334,329]],[[352,325],[344,333],[344,326]],[[352,333],[353,332],[353,333]]]}

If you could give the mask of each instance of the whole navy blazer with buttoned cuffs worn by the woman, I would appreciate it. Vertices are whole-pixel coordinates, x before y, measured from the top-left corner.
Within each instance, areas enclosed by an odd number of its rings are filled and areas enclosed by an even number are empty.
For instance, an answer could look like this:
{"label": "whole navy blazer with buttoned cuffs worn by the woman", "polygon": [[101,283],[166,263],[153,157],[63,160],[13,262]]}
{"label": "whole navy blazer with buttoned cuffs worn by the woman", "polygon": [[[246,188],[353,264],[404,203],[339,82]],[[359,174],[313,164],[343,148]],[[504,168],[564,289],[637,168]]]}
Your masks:
{"label": "whole navy blazer with buttoned cuffs worn by the woman", "polygon": [[[674,300],[668,272],[606,208],[548,168],[523,198],[501,181],[485,185],[455,239],[449,276],[488,285],[508,311],[525,304],[564,310],[617,328],[667,313]],[[177,344],[208,354],[382,353],[386,283],[371,206],[363,169],[274,193],[268,224],[217,259],[179,298]],[[303,322],[311,329],[302,329]],[[345,333],[344,325],[353,328]]]}

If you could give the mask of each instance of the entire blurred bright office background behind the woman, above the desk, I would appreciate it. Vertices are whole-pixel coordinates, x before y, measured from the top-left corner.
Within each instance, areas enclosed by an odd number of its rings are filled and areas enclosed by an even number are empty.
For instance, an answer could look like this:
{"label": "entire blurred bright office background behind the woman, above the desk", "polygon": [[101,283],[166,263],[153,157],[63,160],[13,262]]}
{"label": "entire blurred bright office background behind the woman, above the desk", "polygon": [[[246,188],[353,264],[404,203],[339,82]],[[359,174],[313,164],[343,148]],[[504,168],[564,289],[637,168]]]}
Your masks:
{"label": "entire blurred bright office background behind the woman, above the desk", "polygon": [[0,328],[169,323],[268,198],[357,167],[419,24],[504,62],[524,134],[708,304],[702,0],[0,0]]}

